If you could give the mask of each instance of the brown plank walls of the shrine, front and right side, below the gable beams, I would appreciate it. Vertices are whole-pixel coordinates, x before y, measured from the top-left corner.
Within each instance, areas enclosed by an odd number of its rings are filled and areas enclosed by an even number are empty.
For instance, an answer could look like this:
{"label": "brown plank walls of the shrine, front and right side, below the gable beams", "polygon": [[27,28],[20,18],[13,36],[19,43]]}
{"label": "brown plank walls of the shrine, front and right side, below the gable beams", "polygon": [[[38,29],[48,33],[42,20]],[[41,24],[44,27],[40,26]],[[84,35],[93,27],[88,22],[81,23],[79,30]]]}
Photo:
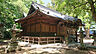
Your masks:
{"label": "brown plank walls of the shrine, front and right side, below the gable beams", "polygon": [[[48,23],[35,23],[35,24],[25,24],[23,27],[24,34],[37,34],[45,33],[44,35],[52,35],[57,33],[58,36],[66,36],[67,34],[75,34],[76,28],[70,28],[65,25],[59,27],[57,25],[48,24]],[[59,33],[58,33],[59,32]],[[50,34],[49,34],[50,33]]]}

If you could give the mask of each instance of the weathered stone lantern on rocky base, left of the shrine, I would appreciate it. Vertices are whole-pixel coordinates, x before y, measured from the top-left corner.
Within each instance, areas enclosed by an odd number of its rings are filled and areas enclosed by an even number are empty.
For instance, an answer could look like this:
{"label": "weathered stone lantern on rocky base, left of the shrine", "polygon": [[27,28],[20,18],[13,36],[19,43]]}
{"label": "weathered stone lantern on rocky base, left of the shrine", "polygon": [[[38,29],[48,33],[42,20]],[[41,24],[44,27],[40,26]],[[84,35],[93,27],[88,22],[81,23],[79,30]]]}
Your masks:
{"label": "weathered stone lantern on rocky base, left of the shrine", "polygon": [[11,52],[11,51],[16,51],[16,50],[21,49],[18,46],[18,42],[16,41],[17,40],[17,38],[16,38],[16,32],[17,31],[22,31],[22,30],[17,29],[16,28],[16,24],[14,24],[13,27],[12,27],[12,29],[11,29],[12,38],[11,38],[11,41],[8,43],[8,46],[5,49],[5,53],[8,53],[8,52]]}

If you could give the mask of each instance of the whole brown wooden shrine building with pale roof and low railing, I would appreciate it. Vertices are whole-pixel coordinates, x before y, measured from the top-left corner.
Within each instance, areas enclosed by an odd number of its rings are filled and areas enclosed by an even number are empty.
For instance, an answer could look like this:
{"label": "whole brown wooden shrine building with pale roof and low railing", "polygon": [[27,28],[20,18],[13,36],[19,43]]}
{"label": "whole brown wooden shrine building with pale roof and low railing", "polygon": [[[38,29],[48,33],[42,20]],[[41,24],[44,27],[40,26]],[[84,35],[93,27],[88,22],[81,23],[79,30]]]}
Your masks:
{"label": "whole brown wooden shrine building with pale roof and low railing", "polygon": [[81,20],[32,2],[28,15],[16,23],[21,24],[24,41],[40,44],[63,42],[69,35],[76,36]]}

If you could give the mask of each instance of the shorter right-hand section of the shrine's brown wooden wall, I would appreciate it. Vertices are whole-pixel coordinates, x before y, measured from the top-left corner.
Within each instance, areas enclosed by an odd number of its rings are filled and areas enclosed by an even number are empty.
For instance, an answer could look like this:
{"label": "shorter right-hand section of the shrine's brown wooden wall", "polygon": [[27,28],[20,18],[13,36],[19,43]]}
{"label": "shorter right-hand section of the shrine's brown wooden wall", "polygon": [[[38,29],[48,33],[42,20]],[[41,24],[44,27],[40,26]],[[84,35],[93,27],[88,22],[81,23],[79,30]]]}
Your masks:
{"label": "shorter right-hand section of the shrine's brown wooden wall", "polygon": [[68,27],[66,25],[62,25],[62,23],[57,24],[57,35],[59,36],[67,36],[71,34],[76,34],[76,28]]}

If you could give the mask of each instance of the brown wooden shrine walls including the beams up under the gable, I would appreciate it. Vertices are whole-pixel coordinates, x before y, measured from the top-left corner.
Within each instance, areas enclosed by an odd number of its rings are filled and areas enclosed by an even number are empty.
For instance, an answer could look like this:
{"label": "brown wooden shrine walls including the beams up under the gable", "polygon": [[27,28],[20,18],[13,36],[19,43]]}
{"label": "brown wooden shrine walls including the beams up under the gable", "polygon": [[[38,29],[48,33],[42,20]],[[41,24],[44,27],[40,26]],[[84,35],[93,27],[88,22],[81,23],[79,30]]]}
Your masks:
{"label": "brown wooden shrine walls including the beams up under the gable", "polygon": [[[61,21],[58,23],[58,20],[55,18],[46,18],[46,17],[36,17],[31,18],[22,23],[23,34],[34,36],[34,35],[54,35],[57,36],[66,36],[67,34],[75,34],[76,29],[66,26],[67,22]],[[61,25],[63,24],[63,25]],[[71,23],[70,23],[71,24]],[[69,24],[68,24],[69,25]]]}

